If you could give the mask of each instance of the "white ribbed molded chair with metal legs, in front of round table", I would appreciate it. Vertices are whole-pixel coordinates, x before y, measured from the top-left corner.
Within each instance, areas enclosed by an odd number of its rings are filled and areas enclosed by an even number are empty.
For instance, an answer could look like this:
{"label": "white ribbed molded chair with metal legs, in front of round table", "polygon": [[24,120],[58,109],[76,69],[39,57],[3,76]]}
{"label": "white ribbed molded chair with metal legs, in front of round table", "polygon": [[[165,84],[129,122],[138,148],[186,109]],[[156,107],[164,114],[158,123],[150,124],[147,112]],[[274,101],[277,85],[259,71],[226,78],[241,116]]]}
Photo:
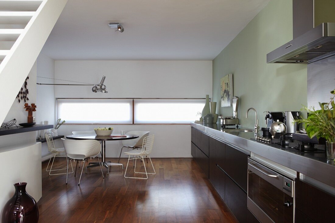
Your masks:
{"label": "white ribbed molded chair with metal legs, in front of round table", "polygon": [[[100,143],[97,140],[94,140],[94,139],[86,139],[86,140],[62,139],[62,140],[63,140],[63,145],[65,148],[66,155],[72,160],[84,161],[83,166],[85,165],[85,161],[88,158],[92,156],[97,156],[100,153]],[[100,164],[99,157],[97,158]],[[81,169],[78,186],[80,184],[80,179],[83,173],[83,169],[84,168]],[[100,170],[103,175],[103,178],[105,178],[103,174],[103,170],[101,169],[101,165],[100,165]],[[67,184],[67,172],[68,172],[68,166],[66,170],[66,184]]]}

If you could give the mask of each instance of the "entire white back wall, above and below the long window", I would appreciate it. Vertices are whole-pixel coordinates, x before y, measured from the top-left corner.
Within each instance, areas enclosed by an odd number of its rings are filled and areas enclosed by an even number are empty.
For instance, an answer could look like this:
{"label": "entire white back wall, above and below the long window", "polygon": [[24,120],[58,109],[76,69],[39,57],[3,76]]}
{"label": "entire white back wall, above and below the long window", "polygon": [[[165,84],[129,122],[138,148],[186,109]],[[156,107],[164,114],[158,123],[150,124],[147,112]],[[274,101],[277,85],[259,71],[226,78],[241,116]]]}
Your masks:
{"label": "entire white back wall, above and below the long window", "polygon": [[[212,61],[55,61],[55,78],[98,83],[106,76],[108,93],[88,86],[55,86],[56,98],[204,98],[212,93]],[[56,83],[67,83],[56,81]],[[93,130],[96,125],[64,125],[59,134]],[[189,125],[113,125],[155,134],[152,157],[191,157]],[[118,157],[121,142],[108,142],[106,157]]]}

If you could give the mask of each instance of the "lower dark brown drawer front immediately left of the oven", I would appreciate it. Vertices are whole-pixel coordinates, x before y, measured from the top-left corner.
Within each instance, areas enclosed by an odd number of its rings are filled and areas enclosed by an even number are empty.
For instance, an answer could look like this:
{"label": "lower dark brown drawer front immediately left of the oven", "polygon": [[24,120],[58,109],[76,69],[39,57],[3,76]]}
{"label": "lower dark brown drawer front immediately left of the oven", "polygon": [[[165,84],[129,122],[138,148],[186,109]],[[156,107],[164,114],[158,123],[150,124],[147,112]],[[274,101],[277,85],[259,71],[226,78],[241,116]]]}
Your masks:
{"label": "lower dark brown drawer front immediately left of the oven", "polygon": [[239,222],[247,222],[247,194],[229,177],[225,177],[224,203]]}

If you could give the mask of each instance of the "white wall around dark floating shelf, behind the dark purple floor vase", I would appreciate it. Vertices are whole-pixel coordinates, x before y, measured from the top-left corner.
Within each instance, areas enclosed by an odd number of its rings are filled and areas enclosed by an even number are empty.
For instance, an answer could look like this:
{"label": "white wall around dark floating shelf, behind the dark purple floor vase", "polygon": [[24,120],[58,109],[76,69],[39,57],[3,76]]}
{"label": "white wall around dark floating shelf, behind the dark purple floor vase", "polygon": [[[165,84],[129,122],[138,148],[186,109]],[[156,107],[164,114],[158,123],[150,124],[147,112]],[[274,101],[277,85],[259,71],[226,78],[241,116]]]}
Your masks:
{"label": "white wall around dark floating shelf, behind the dark purple floor vase", "polygon": [[[36,63],[29,72],[27,88],[29,90],[29,105],[36,103]],[[14,72],[15,73],[15,72]],[[37,104],[36,110],[40,109]],[[28,112],[24,102],[15,100],[5,118],[5,122],[15,118],[18,123],[27,122]],[[32,113],[36,116],[36,112]],[[36,143],[35,132],[24,132],[0,136],[0,163],[3,171],[0,172],[0,215],[7,200],[14,194],[13,184],[26,182],[27,192],[36,201],[42,196],[41,179],[41,143]],[[0,216],[1,218],[1,216]]]}

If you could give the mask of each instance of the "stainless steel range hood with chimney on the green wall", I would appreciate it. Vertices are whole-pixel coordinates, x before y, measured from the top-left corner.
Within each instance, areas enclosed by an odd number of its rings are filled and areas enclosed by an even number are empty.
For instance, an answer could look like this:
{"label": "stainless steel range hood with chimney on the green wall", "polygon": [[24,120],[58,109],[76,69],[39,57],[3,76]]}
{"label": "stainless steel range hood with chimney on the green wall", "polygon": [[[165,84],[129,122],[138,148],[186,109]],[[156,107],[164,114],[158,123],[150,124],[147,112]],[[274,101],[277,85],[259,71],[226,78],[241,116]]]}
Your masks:
{"label": "stainless steel range hood with chimney on the green wall", "polygon": [[292,7],[293,39],[268,53],[267,63],[309,64],[334,55],[335,1],[293,0]]}

